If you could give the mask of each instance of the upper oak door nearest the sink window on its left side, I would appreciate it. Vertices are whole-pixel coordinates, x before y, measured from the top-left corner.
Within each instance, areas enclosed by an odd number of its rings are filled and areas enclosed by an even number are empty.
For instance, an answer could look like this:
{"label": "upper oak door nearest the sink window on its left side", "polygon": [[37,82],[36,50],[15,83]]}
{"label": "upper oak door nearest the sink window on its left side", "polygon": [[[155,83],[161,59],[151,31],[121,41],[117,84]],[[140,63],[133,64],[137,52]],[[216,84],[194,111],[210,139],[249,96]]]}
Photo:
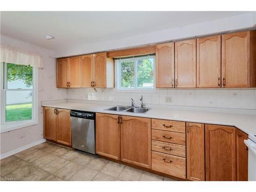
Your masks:
{"label": "upper oak door nearest the sink window on its left side", "polygon": [[106,53],[93,54],[94,61],[94,87],[106,87]]}

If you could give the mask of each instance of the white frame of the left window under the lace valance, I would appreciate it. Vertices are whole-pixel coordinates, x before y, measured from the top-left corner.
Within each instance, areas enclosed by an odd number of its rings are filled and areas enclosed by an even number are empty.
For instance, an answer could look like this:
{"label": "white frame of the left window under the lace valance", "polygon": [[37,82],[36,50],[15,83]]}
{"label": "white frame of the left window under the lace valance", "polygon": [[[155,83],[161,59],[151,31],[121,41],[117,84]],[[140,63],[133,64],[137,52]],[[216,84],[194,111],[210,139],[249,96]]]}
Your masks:
{"label": "white frame of the left window under the lace valance", "polygon": [[[33,66],[32,66],[33,67]],[[38,68],[33,67],[33,89],[7,89],[7,63],[0,63],[1,83],[1,119],[0,133],[20,129],[38,124]],[[6,91],[32,91],[32,119],[20,121],[6,121]]]}

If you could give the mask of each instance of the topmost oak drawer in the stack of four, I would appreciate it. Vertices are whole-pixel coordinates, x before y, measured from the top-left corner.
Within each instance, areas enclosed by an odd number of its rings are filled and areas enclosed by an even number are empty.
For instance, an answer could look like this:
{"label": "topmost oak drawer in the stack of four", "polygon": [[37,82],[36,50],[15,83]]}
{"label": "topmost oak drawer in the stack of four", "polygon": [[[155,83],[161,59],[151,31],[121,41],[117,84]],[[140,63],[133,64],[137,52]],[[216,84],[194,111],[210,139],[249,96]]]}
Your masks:
{"label": "topmost oak drawer in the stack of four", "polygon": [[152,129],[186,133],[186,123],[182,121],[171,121],[163,119],[152,119]]}

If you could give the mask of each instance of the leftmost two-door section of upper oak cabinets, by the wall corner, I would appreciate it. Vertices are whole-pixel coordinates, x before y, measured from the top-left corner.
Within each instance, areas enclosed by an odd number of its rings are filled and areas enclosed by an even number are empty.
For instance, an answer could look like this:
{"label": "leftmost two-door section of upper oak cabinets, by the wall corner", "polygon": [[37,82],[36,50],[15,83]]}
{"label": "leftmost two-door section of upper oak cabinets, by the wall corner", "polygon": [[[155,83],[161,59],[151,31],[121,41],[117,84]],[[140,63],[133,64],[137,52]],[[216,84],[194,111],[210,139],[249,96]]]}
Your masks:
{"label": "leftmost two-door section of upper oak cabinets, by the wall corner", "polygon": [[81,87],[81,57],[57,59],[57,88]]}

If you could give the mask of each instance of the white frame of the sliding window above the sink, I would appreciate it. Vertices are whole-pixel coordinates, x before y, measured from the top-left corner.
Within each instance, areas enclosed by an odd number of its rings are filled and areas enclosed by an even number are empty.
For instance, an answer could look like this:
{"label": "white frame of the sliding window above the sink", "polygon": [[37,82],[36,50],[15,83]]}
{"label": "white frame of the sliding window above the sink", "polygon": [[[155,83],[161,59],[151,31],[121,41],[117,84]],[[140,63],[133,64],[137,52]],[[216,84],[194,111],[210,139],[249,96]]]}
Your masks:
{"label": "white frame of the sliding window above the sink", "polygon": [[[142,58],[153,58],[154,63],[153,63],[153,76],[154,76],[154,86],[153,88],[137,88],[137,62],[139,59]],[[135,88],[121,88],[120,87],[120,79],[121,79],[121,73],[120,73],[120,67],[119,67],[119,62],[118,61],[123,61],[123,60],[135,60]],[[124,57],[124,58],[116,58],[115,59],[115,84],[117,85],[115,87],[115,92],[119,93],[157,93],[156,89],[156,55],[142,55],[142,56],[134,56],[134,57]]]}

